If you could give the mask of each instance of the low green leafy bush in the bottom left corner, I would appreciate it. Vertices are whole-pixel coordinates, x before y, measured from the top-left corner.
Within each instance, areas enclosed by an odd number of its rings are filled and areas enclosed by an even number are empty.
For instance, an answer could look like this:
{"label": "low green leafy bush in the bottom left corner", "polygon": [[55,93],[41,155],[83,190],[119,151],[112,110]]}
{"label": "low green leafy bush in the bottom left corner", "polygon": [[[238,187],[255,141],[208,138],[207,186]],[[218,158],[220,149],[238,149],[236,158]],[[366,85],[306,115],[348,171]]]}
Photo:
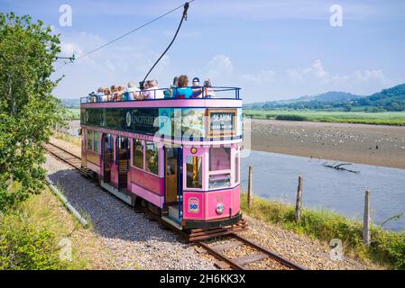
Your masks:
{"label": "low green leafy bush in the bottom left corner", "polygon": [[27,216],[0,216],[0,270],[62,269],[55,236],[37,228]]}

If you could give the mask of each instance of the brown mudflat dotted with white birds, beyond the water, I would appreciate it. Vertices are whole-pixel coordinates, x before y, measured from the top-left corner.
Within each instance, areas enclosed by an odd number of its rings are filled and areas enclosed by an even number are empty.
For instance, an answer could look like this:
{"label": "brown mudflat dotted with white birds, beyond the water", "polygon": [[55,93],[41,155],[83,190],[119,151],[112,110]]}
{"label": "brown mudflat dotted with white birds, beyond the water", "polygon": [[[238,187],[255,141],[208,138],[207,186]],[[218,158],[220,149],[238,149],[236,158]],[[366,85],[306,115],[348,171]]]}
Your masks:
{"label": "brown mudflat dotted with white birds, beyond the water", "polygon": [[405,168],[405,127],[252,120],[253,150]]}

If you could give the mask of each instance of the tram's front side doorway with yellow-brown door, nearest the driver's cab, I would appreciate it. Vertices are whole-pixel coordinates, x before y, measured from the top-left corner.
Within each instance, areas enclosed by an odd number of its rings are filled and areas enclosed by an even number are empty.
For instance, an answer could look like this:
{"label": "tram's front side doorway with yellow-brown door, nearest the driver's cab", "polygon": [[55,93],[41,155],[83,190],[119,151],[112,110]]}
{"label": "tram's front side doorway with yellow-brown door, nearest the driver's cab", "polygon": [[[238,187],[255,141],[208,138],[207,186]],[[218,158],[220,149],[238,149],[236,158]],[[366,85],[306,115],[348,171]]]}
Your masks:
{"label": "tram's front side doorway with yellow-brown door, nearest the driver's cab", "polygon": [[182,194],[181,167],[182,149],[166,148],[166,192],[165,200],[168,205],[180,204]]}

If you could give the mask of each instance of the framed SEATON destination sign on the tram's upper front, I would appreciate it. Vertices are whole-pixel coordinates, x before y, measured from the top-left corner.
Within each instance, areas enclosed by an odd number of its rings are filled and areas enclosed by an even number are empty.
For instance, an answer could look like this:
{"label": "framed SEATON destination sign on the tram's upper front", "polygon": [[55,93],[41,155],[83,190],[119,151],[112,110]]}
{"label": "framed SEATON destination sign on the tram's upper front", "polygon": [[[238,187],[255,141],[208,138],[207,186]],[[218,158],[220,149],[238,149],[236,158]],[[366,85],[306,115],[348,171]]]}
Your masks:
{"label": "framed SEATON destination sign on the tram's upper front", "polygon": [[235,135],[236,109],[209,109],[209,135],[225,136]]}

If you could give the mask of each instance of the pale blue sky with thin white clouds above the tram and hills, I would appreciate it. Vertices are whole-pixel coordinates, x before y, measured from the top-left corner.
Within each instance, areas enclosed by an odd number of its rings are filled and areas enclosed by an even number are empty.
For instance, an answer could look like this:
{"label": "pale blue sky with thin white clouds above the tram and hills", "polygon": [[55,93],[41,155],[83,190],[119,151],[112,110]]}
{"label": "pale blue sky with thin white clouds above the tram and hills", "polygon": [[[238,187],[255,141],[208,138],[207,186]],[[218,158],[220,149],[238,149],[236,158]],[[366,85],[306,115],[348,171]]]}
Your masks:
{"label": "pale blue sky with thin white clouds above the tram and hills", "polygon": [[[50,24],[60,34],[60,56],[79,57],[183,3],[0,0],[0,11]],[[66,25],[66,4],[71,25]],[[54,94],[77,98],[99,86],[138,83],[170,43],[181,13],[73,64],[60,67],[59,60],[52,77],[63,78]],[[327,91],[373,94],[405,82],[404,51],[401,0],[195,0],[150,78],[161,87],[180,74],[209,78],[213,85],[241,87],[244,103]]]}

